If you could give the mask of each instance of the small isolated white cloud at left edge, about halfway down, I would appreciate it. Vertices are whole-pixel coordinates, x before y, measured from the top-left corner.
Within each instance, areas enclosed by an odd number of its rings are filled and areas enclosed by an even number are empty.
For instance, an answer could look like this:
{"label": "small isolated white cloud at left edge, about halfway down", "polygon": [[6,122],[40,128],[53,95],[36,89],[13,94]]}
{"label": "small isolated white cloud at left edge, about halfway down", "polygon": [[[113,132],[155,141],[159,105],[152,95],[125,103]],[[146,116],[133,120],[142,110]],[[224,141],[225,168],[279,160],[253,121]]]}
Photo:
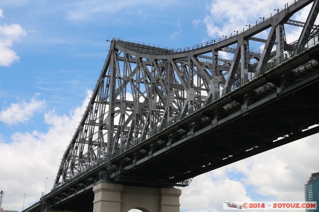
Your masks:
{"label": "small isolated white cloud at left edge, about halfway down", "polygon": [[[38,94],[36,94],[37,96]],[[18,103],[11,103],[10,107],[2,109],[0,112],[0,121],[12,125],[20,122],[25,123],[33,117],[34,113],[45,108],[45,100],[38,100],[32,98],[30,102],[25,100]]]}

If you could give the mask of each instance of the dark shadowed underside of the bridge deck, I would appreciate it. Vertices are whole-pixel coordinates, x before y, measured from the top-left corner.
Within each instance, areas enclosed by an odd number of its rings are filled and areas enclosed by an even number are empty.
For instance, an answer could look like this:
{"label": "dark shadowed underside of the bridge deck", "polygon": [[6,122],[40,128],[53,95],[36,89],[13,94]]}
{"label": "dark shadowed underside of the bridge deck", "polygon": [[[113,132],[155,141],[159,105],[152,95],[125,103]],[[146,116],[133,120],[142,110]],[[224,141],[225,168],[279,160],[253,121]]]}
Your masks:
{"label": "dark shadowed underside of the bridge deck", "polygon": [[[172,148],[159,159],[123,173],[123,176],[134,176],[137,179],[165,179],[167,175],[178,176],[178,173],[185,173],[172,181],[178,183],[318,133],[319,127],[302,132],[310,125],[319,124],[319,99],[313,93],[318,90],[317,81],[277,101],[267,102],[262,108],[252,110],[245,116],[236,117],[197,136],[190,136],[191,138],[179,148]],[[277,137],[282,139],[274,141]],[[126,182],[129,183],[130,180],[121,180],[121,183]],[[137,182],[132,181],[132,183]]]}

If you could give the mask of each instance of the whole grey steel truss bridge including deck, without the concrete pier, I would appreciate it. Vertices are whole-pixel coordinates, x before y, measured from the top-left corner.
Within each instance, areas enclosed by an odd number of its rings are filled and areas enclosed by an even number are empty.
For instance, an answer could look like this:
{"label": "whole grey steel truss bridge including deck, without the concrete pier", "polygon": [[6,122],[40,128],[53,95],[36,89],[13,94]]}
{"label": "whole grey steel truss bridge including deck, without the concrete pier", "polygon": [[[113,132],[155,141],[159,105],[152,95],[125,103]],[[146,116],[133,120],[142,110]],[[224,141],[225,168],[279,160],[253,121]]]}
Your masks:
{"label": "whole grey steel truss bridge including deck, without the concrete pier", "polygon": [[[290,19],[309,4],[306,22]],[[318,0],[294,0],[223,38],[179,49],[110,40],[54,188],[25,211],[92,208],[100,182],[187,186],[318,133],[318,11]],[[301,27],[299,39],[287,43],[285,26]],[[263,31],[267,39],[258,38]]]}

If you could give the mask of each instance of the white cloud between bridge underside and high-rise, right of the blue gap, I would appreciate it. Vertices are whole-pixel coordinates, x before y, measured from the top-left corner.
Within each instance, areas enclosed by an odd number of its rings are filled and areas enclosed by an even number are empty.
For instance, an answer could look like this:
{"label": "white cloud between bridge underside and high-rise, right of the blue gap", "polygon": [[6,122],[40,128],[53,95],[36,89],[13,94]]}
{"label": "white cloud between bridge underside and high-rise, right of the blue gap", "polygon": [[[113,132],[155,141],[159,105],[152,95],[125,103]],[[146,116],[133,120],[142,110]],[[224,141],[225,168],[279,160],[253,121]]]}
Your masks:
{"label": "white cloud between bridge underside and high-rise, right of the blue gap", "polygon": [[[303,185],[311,172],[317,170],[318,135],[248,158],[234,168],[246,176],[242,179],[254,186],[259,194],[274,196],[277,200],[304,201]],[[258,160],[256,160],[258,158]]]}

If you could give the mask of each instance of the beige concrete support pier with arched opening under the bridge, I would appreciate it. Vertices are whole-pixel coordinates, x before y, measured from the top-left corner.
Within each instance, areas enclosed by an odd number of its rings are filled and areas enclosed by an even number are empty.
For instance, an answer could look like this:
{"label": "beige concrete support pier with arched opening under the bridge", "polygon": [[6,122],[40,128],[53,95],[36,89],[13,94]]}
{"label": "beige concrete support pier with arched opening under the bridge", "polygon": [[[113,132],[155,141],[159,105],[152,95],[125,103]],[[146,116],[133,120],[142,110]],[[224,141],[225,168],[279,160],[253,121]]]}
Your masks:
{"label": "beige concrete support pier with arched opening under the bridge", "polygon": [[100,183],[93,187],[93,212],[128,212],[139,209],[143,212],[179,212],[179,197],[176,188],[145,188]]}

